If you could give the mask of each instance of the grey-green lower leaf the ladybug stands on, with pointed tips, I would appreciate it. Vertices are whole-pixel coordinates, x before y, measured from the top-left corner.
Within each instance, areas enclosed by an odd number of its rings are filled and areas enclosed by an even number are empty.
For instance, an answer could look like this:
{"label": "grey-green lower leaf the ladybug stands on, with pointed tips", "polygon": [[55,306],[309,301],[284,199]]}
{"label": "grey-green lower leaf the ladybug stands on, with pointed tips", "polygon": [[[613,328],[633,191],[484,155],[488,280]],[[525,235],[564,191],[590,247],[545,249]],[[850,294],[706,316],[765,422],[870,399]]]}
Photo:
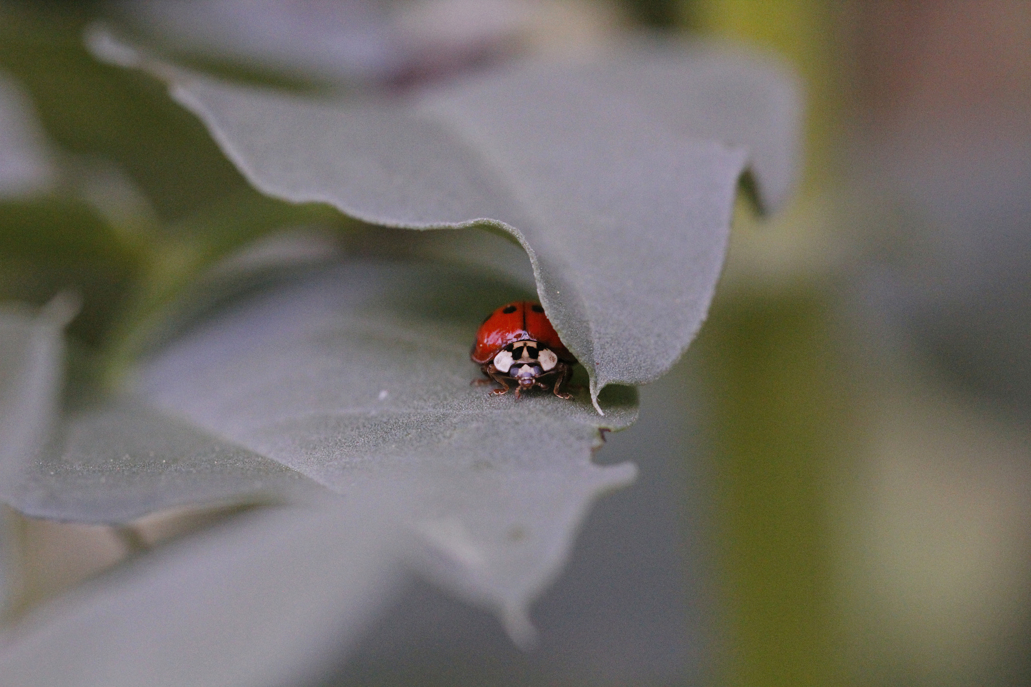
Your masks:
{"label": "grey-green lower leaf the ladybug stands on, with pointed tips", "polygon": [[318,484],[405,493],[390,515],[422,543],[408,562],[528,642],[526,606],[591,502],[634,477],[591,455],[599,427],[634,420],[636,393],[606,390],[602,418],[584,388],[516,402],[471,386],[484,313],[525,296],[471,267],[417,261],[266,276],[143,363],[132,396],[72,415],[61,450],[3,495],[30,515],[124,522]]}

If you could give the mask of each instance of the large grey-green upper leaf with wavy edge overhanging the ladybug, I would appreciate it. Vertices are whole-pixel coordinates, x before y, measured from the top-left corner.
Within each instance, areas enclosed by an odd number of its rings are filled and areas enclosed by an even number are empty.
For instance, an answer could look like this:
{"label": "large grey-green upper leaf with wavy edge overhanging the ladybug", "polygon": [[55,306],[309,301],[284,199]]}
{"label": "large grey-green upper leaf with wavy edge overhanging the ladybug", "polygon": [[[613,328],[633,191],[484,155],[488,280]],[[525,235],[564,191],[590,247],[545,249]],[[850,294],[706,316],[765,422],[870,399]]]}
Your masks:
{"label": "large grey-green upper leaf with wavy edge overhanging the ladybug", "polygon": [[710,46],[514,67],[399,103],[233,85],[99,29],[91,44],[168,80],[266,194],[390,227],[511,234],[593,399],[656,379],[694,337],[744,170],[766,206],[793,174],[792,80]]}

